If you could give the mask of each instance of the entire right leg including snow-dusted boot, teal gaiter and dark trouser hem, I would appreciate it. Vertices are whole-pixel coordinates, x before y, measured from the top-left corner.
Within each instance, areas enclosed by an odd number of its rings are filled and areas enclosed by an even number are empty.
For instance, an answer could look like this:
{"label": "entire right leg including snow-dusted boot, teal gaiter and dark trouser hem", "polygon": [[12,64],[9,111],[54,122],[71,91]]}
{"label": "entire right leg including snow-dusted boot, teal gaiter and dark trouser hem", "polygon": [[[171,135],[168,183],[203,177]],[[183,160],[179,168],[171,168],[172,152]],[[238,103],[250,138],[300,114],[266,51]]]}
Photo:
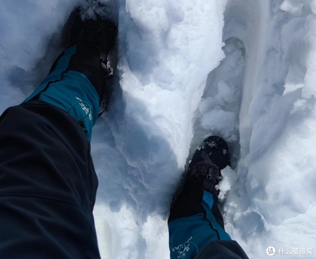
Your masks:
{"label": "entire right leg including snow-dusted boot, teal gaiter and dark trouser hem", "polygon": [[[230,165],[228,147],[218,137],[204,140],[194,154],[184,188],[175,197],[170,209],[168,227],[171,259],[190,259],[197,254],[194,258],[210,258],[210,254],[203,251],[213,247],[221,252],[212,253],[211,258],[247,258],[240,246],[225,232],[217,206],[215,186],[220,170],[227,165]],[[230,249],[234,248],[240,253],[231,255]],[[201,257],[201,253],[208,254],[208,257]]]}

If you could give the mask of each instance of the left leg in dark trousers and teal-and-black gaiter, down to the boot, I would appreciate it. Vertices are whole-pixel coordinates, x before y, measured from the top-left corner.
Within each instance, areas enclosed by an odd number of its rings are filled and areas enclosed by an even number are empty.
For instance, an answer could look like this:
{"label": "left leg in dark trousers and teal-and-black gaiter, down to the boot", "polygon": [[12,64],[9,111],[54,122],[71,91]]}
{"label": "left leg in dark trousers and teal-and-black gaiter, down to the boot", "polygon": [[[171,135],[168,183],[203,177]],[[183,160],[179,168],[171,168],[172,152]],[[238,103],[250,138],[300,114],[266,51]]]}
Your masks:
{"label": "left leg in dark trousers and teal-and-black gaiter, down to the boot", "polygon": [[[109,24],[88,22],[90,29]],[[103,46],[110,47],[107,35]],[[81,45],[58,57],[40,87],[0,117],[0,258],[100,258],[89,141],[106,59],[88,32],[81,36]]]}

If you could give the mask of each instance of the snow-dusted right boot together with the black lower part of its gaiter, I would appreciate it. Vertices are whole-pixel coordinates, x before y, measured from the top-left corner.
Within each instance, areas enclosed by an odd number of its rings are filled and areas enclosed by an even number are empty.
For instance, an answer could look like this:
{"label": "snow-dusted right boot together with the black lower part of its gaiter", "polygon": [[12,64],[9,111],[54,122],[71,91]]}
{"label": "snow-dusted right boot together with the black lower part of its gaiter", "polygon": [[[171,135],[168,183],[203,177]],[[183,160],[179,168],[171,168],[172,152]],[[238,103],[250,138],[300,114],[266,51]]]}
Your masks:
{"label": "snow-dusted right boot together with the black lower part of its gaiter", "polygon": [[222,214],[217,206],[219,190],[215,187],[220,180],[221,170],[227,165],[230,166],[230,157],[226,142],[216,136],[205,139],[192,157],[183,188],[173,197],[168,224],[175,219],[205,214],[201,202],[206,190],[213,196],[212,213],[224,228]]}

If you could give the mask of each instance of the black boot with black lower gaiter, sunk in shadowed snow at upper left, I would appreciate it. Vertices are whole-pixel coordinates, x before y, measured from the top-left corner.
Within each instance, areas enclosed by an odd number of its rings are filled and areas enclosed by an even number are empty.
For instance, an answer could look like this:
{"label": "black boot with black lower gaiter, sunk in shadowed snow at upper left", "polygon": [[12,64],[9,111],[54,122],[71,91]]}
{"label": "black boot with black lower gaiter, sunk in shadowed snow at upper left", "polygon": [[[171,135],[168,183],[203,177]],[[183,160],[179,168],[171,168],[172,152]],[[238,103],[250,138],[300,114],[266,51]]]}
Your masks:
{"label": "black boot with black lower gaiter, sunk in shadowed snow at upper left", "polygon": [[108,6],[98,3],[99,15],[94,13],[94,19],[81,19],[81,9],[76,8],[71,14],[74,21],[71,29],[70,46],[77,45],[76,53],[71,57],[68,69],[81,72],[96,89],[100,105],[108,93],[106,78],[113,76],[113,69],[108,65],[108,56],[116,42],[117,25],[106,17]]}

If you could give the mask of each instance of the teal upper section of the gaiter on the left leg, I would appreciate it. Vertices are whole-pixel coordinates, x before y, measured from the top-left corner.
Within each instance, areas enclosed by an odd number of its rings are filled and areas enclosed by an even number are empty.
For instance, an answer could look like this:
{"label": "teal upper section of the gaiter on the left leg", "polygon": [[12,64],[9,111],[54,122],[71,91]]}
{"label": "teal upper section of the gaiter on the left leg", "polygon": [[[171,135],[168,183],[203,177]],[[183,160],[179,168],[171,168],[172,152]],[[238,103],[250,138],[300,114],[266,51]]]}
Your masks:
{"label": "teal upper section of the gaiter on the left leg", "polygon": [[24,102],[35,97],[63,109],[80,123],[90,141],[99,114],[99,96],[84,74],[67,70],[75,53],[76,46],[65,50],[55,69]]}

